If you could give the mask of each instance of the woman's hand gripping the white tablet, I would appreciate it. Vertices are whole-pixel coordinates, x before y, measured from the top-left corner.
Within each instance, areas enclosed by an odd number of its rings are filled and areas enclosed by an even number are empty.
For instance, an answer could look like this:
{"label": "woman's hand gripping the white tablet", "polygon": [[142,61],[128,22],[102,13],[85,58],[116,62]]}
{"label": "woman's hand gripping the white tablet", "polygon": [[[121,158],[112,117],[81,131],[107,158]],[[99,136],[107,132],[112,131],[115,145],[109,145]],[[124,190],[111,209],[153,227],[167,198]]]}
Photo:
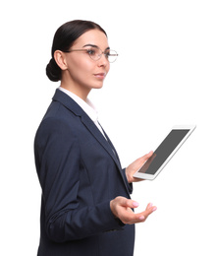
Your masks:
{"label": "woman's hand gripping the white tablet", "polygon": [[137,172],[137,169],[139,169],[143,163],[148,160],[151,156],[153,155],[153,152],[151,151],[150,153],[144,155],[143,157],[135,160],[133,163],[131,163],[127,168],[126,168],[126,175],[129,183],[132,182],[137,182],[141,181],[142,179],[140,178],[135,178],[133,175]]}

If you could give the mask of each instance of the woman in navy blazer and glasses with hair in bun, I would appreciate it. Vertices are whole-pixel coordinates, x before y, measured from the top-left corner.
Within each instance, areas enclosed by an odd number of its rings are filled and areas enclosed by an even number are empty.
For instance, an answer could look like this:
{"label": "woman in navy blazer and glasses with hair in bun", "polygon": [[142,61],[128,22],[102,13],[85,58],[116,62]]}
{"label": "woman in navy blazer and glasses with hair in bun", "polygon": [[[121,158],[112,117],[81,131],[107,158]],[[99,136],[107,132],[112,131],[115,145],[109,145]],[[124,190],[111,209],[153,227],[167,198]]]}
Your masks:
{"label": "woman in navy blazer and glasses with hair in bun", "polygon": [[135,214],[130,199],[137,168],[122,169],[87,96],[100,89],[117,53],[97,24],[73,21],[55,33],[46,74],[61,81],[36,132],[34,154],[42,188],[39,256],[129,256],[135,225],[156,210]]}

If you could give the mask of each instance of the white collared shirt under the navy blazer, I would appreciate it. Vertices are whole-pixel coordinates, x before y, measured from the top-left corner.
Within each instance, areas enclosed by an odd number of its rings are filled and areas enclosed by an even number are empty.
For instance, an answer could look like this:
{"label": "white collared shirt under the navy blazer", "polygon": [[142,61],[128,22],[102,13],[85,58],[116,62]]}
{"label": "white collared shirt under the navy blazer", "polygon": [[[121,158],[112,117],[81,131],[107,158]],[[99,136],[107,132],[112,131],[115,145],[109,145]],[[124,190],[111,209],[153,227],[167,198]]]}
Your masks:
{"label": "white collared shirt under the navy blazer", "polygon": [[85,102],[84,100],[82,100],[80,96],[77,96],[72,92],[70,92],[69,90],[66,90],[62,87],[59,87],[59,90],[65,93],[66,95],[71,96],[82,107],[82,110],[89,116],[89,118],[94,122],[96,127],[100,130],[102,135],[105,137],[103,130],[98,123],[98,112],[94,104],[88,98],[86,98],[86,102]]}

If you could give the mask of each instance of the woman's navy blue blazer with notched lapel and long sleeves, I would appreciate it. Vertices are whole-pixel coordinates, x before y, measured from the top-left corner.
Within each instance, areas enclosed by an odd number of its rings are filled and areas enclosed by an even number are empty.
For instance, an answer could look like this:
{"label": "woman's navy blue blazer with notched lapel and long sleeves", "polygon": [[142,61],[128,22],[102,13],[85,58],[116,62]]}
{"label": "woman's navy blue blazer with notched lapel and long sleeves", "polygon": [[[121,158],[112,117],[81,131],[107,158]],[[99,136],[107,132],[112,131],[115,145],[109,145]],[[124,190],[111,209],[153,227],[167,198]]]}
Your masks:
{"label": "woman's navy blue blazer with notched lapel and long sleeves", "polygon": [[133,255],[135,225],[110,210],[115,197],[130,198],[132,184],[109,138],[60,90],[36,132],[34,156],[42,189],[37,255]]}

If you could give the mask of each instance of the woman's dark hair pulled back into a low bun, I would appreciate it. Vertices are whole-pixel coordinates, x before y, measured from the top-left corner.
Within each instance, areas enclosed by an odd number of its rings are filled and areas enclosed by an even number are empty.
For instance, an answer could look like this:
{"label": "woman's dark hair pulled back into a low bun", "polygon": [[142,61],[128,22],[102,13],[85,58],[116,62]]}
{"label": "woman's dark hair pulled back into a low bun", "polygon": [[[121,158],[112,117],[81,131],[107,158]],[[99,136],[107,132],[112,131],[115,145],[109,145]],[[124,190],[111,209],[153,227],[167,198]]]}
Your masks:
{"label": "woman's dark hair pulled back into a low bun", "polygon": [[58,82],[62,79],[62,70],[54,59],[54,52],[56,50],[68,51],[73,45],[74,41],[78,39],[84,32],[95,29],[106,34],[106,32],[98,24],[81,20],[68,22],[62,25],[55,32],[52,44],[52,58],[49,64],[46,66],[46,75],[51,81]]}

